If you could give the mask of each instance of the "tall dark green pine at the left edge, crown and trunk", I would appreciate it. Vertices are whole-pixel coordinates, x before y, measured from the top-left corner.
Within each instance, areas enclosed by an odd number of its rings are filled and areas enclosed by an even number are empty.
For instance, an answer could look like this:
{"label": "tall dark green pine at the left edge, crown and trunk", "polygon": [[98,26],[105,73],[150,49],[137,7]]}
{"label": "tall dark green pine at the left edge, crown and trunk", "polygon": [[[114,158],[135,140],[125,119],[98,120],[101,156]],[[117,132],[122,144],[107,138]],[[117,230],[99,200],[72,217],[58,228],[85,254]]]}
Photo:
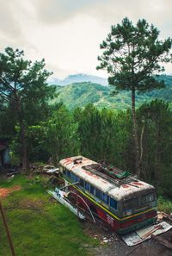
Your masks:
{"label": "tall dark green pine at the left edge, crown and trunk", "polygon": [[50,74],[44,59],[32,63],[24,59],[23,51],[11,47],[0,53],[0,104],[13,109],[16,117],[24,169],[28,169],[26,128],[30,123],[34,125],[47,110],[47,100],[53,92],[46,84]]}

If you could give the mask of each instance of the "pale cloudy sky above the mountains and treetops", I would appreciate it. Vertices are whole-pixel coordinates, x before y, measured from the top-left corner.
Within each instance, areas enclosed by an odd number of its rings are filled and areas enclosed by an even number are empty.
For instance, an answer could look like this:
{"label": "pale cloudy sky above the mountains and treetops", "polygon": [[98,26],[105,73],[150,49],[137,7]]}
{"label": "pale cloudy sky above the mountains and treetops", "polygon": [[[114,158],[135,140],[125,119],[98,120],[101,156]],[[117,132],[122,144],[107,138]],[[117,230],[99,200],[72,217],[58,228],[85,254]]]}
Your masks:
{"label": "pale cloudy sky above the mountains and treetops", "polygon": [[[127,16],[144,18],[172,37],[171,0],[0,0],[0,51],[23,49],[28,59],[46,59],[56,78],[96,71],[99,45],[110,26]],[[172,65],[166,66],[172,74]]]}

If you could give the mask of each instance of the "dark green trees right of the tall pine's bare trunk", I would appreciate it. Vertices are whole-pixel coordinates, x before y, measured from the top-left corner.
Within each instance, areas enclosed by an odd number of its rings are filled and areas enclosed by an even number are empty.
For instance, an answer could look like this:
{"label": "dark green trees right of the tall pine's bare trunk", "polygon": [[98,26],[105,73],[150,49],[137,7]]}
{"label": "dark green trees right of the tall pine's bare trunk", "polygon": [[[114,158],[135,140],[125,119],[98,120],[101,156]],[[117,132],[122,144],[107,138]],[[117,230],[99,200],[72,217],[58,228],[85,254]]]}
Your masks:
{"label": "dark green trees right of the tall pine's bare trunk", "polygon": [[138,132],[144,131],[143,178],[156,184],[161,194],[171,197],[172,116],[169,106],[155,100],[142,105],[137,114]]}

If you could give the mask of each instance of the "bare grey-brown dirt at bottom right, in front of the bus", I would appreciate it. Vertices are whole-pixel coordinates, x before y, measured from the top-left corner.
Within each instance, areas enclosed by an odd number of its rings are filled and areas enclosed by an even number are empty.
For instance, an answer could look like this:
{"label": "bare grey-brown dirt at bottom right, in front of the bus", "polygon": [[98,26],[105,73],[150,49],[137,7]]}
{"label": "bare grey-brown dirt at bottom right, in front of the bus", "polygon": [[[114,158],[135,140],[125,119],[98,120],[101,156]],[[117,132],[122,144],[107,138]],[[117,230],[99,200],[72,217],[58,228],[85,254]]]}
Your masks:
{"label": "bare grey-brown dirt at bottom right, in front of the bus", "polygon": [[[95,256],[172,256],[172,250],[152,239],[128,247],[118,234],[98,227],[94,223],[84,222],[83,228],[87,234],[101,242],[101,246],[90,248],[90,253]],[[172,239],[172,229],[159,236],[166,240],[170,237]]]}

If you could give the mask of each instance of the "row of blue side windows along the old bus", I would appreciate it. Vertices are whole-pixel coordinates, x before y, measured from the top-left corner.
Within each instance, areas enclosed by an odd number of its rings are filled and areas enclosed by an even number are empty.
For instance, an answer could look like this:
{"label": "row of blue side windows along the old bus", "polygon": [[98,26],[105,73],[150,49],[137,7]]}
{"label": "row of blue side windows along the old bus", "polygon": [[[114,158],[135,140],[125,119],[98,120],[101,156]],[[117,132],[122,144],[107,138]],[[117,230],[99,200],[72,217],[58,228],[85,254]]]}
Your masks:
{"label": "row of blue side windows along the old bus", "polygon": [[107,194],[103,193],[101,190],[98,190],[92,184],[89,184],[86,181],[83,181],[82,178],[78,178],[73,172],[70,172],[67,169],[64,169],[64,175],[71,179],[72,182],[79,182],[85,190],[89,191],[90,194],[100,199],[103,203],[110,205],[113,209],[117,209],[117,201],[112,197],[108,197]]}

